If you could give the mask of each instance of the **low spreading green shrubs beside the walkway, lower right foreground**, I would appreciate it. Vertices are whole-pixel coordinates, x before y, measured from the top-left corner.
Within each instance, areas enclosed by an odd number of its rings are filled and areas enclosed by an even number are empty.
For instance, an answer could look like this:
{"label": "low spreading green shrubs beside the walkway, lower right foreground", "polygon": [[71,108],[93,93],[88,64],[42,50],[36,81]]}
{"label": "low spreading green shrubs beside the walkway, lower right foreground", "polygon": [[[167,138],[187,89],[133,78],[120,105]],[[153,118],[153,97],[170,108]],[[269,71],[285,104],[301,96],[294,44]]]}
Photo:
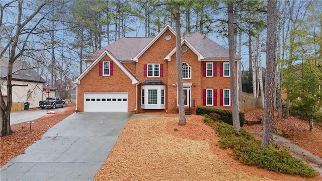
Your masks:
{"label": "low spreading green shrubs beside the walkway, lower right foreground", "polygon": [[[207,118],[205,115],[204,118]],[[221,139],[218,144],[221,148],[230,148],[234,157],[246,165],[253,165],[279,173],[314,177],[316,171],[304,164],[301,160],[291,156],[289,151],[281,145],[270,145],[262,149],[261,142],[243,128],[239,132],[224,122],[204,121],[216,129]]]}

